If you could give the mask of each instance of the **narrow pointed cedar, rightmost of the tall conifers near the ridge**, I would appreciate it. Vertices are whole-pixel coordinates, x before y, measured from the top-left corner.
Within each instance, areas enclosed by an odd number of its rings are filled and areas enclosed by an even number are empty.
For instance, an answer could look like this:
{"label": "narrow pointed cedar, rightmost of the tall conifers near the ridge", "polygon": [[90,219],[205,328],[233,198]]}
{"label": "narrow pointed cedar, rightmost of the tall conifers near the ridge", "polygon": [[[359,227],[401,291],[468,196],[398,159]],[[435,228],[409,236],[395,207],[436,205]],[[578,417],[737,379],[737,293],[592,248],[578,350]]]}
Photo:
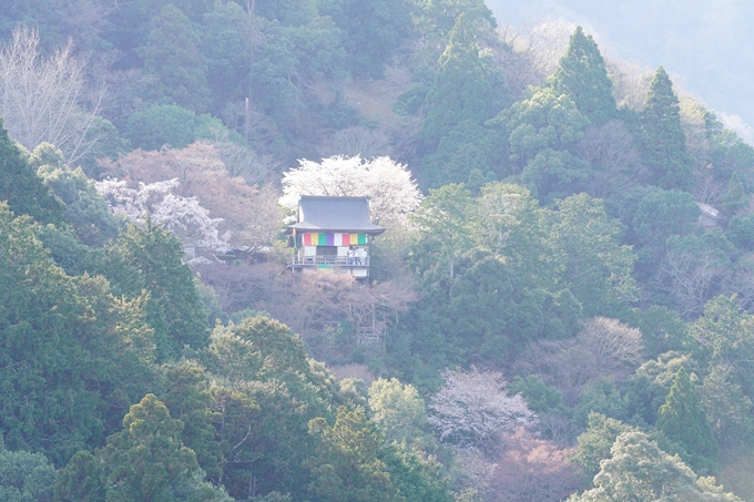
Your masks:
{"label": "narrow pointed cedar, rightmost of the tall conifers near the ridge", "polygon": [[679,99],[662,66],[654,75],[641,114],[641,134],[644,164],[650,168],[650,183],[665,189],[691,191],[693,162],[686,152]]}

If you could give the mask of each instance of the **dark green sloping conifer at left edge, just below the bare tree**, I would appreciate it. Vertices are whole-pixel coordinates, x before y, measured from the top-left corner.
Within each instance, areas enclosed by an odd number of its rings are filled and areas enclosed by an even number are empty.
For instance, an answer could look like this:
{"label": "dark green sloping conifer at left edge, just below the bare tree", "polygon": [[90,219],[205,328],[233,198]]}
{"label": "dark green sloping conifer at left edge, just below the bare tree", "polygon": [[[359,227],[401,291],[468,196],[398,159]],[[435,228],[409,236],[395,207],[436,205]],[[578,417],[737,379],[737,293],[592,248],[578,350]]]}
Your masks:
{"label": "dark green sloping conifer at left edge, just below the bare tree", "polygon": [[0,117],[0,202],[17,216],[29,215],[39,223],[63,223],[65,206],[44,186],[8,135]]}

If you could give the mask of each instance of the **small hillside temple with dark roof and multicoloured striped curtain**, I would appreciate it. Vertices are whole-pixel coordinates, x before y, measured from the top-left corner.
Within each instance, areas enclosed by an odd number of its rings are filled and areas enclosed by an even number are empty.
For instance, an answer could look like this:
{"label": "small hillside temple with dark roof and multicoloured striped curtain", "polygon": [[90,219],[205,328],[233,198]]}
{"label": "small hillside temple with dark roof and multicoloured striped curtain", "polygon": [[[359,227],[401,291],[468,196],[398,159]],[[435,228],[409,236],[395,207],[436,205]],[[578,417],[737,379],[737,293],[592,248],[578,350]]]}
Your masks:
{"label": "small hillside temple with dark roof and multicoloured striped curtain", "polygon": [[296,223],[286,228],[294,248],[293,270],[333,268],[358,279],[369,277],[369,244],[385,232],[369,219],[366,197],[302,195]]}

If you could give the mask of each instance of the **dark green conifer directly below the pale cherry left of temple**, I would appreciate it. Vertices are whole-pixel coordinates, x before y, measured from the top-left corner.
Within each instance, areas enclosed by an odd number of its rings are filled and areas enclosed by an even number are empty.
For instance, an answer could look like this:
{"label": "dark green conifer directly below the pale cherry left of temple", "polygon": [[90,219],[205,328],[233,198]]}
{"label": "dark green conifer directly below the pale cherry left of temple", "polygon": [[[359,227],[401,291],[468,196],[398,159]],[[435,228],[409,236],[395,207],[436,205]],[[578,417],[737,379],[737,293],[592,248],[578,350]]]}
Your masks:
{"label": "dark green conifer directly below the pale cherry left of temple", "polygon": [[177,357],[184,345],[206,346],[206,313],[181,243],[170,232],[151,221],[143,228],[131,225],[106,248],[100,266],[116,294],[136,298],[149,293],[144,309],[161,360]]}

